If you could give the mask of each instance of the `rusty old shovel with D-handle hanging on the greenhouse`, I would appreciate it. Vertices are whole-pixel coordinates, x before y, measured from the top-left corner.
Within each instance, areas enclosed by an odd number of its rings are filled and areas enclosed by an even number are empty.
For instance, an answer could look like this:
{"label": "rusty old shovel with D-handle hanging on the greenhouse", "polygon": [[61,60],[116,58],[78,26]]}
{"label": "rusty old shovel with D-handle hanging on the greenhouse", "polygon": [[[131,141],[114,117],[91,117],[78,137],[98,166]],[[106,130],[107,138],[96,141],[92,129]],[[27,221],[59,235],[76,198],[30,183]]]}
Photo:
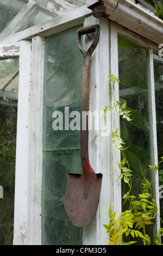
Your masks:
{"label": "rusty old shovel with D-handle hanging on the greenhouse", "polygon": [[[95,38],[84,50],[81,35],[95,32]],[[99,41],[99,25],[87,26],[78,30],[77,44],[83,54],[82,108],[80,118],[80,151],[83,174],[68,173],[64,206],[70,221],[77,227],[88,225],[96,214],[101,192],[102,174],[96,174],[89,162],[88,118],[86,130],[83,127],[82,113],[89,111],[91,56]]]}

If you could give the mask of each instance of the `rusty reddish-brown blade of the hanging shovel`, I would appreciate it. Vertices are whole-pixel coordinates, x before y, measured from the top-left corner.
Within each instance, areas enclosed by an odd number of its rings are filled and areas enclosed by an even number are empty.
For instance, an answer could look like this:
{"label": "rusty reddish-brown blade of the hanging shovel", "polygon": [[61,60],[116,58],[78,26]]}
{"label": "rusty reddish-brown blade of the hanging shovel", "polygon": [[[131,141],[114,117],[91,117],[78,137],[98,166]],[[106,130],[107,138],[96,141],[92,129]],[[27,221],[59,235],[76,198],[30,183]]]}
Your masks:
{"label": "rusty reddish-brown blade of the hanging shovel", "polygon": [[102,174],[95,174],[89,162],[85,164],[87,176],[68,173],[64,206],[70,221],[77,227],[86,227],[98,209]]}

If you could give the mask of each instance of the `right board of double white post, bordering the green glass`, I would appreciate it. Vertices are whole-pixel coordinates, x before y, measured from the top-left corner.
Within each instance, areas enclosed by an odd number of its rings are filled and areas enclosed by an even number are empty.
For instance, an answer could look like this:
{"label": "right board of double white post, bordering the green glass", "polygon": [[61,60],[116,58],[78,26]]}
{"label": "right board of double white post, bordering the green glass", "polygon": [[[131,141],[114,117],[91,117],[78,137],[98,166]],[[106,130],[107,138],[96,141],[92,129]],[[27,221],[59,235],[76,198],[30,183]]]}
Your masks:
{"label": "right board of double white post, bordering the green glass", "polygon": [[29,245],[41,245],[42,108],[44,38],[32,39],[30,88]]}

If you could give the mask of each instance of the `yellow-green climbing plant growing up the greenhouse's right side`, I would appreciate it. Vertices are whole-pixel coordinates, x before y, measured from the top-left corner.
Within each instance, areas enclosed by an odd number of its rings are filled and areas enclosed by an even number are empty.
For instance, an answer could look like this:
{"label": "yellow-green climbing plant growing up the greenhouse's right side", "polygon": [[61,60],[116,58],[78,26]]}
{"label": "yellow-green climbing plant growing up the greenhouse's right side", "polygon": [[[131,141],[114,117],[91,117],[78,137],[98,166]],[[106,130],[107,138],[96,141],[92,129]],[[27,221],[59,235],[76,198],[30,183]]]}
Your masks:
{"label": "yellow-green climbing plant growing up the greenhouse's right side", "polygon": [[[112,93],[112,88],[115,89],[115,82],[120,83],[120,81],[114,75],[110,75],[109,77],[110,92],[114,99],[114,106],[105,106],[104,117],[105,113],[107,113],[108,111],[112,111],[112,109],[114,108],[116,109],[119,127],[115,132],[112,132],[112,142],[116,145],[118,149],[121,150],[121,153],[123,155],[123,160],[121,161],[121,163],[118,163],[118,168],[120,168],[121,170],[121,175],[118,177],[118,179],[123,179],[124,182],[126,182],[126,184],[128,184],[129,186],[129,191],[123,196],[123,204],[129,202],[129,209],[123,211],[118,216],[118,218],[115,219],[116,212],[112,213],[110,206],[110,221],[109,224],[104,224],[104,227],[106,229],[106,233],[109,233],[110,245],[131,245],[137,242],[137,239],[141,239],[143,245],[150,245],[151,237],[147,234],[146,227],[148,225],[152,225],[155,216],[158,215],[156,200],[152,196],[152,182],[156,176],[156,173],[158,172],[159,164],[163,162],[163,157],[161,157],[161,161],[158,164],[155,164],[155,166],[149,165],[149,169],[154,173],[151,181],[146,178],[145,174],[143,173],[142,167],[140,166],[140,171],[143,177],[143,182],[141,184],[142,193],[133,196],[131,194],[131,176],[133,176],[133,172],[130,169],[129,161],[127,160],[127,157],[125,155],[125,150],[127,148],[123,148],[123,145],[125,143],[121,138],[120,126],[120,116],[127,119],[128,121],[132,120],[130,118],[131,111],[126,109],[126,101],[121,102],[115,100],[115,96]],[[160,229],[155,239],[156,245],[161,245],[162,235],[163,229]],[[126,241],[126,237],[128,236],[129,241]]]}

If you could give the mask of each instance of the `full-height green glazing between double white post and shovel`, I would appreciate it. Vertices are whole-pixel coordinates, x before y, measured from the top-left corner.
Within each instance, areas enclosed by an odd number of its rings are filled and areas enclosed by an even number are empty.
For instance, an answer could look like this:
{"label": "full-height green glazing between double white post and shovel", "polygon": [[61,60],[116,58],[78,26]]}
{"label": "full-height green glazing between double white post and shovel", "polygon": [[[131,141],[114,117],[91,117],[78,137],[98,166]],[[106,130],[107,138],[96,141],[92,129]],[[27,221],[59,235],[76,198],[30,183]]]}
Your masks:
{"label": "full-height green glazing between double white post and shovel", "polygon": [[80,133],[79,130],[69,129],[73,120],[70,113],[80,113],[82,96],[83,57],[77,46],[78,28],[49,36],[45,42],[43,245],[82,244],[83,229],[71,224],[63,204],[68,172],[83,172],[80,160]]}

